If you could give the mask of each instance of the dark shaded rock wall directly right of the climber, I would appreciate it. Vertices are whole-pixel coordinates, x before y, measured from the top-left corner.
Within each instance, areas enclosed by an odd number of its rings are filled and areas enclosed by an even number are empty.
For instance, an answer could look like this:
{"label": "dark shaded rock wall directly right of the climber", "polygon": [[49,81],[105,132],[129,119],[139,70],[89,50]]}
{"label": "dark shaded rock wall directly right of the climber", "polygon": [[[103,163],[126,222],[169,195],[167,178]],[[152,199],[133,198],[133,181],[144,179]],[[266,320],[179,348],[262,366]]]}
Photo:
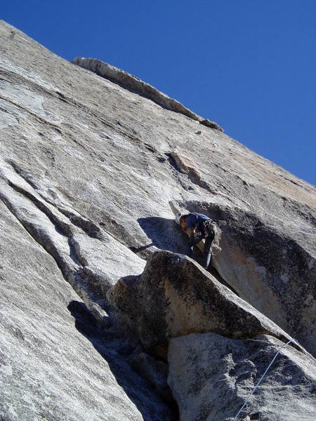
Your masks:
{"label": "dark shaded rock wall directly right of the climber", "polygon": [[222,230],[212,264],[239,297],[316,354],[316,225],[230,206],[181,203],[206,213]]}

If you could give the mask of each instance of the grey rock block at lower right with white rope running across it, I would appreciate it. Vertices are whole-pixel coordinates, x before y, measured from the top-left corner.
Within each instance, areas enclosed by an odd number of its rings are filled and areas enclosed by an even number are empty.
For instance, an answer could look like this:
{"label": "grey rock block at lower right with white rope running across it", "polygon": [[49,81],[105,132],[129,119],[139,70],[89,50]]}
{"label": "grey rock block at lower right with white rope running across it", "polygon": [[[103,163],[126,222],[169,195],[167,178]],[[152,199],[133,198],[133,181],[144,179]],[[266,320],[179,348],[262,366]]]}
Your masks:
{"label": "grey rock block at lower right with white rope running across it", "polygon": [[[168,381],[180,420],[234,420],[282,345],[268,335],[240,340],[194,333],[171,339]],[[284,348],[237,420],[312,421],[315,382],[310,357]]]}

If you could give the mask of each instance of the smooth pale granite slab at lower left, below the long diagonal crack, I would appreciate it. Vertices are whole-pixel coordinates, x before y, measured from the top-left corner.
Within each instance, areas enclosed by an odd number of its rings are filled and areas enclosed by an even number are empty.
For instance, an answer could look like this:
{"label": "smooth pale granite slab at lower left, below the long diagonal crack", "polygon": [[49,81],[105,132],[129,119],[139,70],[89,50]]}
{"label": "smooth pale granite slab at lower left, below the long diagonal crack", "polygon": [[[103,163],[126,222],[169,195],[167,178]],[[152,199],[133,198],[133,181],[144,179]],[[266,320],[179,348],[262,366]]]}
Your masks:
{"label": "smooth pale granite slab at lower left, below the long diagonal crack", "polygon": [[1,419],[171,419],[53,257],[2,201],[0,214]]}

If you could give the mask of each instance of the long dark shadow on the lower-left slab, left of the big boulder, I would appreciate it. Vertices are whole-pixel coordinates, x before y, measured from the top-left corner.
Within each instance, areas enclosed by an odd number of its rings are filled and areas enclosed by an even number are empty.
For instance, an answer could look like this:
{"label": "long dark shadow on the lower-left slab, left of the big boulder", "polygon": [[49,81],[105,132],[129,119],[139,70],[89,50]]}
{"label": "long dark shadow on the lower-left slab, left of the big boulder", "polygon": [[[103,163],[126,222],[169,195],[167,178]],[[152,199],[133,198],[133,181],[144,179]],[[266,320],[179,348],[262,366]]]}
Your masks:
{"label": "long dark shadow on the lower-left slab, left of the big boulder", "polygon": [[129,365],[128,357],[136,345],[129,343],[129,338],[121,337],[119,333],[115,333],[114,329],[107,331],[100,328],[93,314],[83,302],[73,300],[69,303],[67,309],[74,317],[75,327],[79,333],[84,335],[103,359],[107,361],[117,383],[138,408],[143,420],[159,421],[159,416],[155,416],[154,408],[162,406],[169,408],[171,414],[173,414],[166,420],[177,421],[179,415],[176,403],[167,405],[162,401],[159,395],[154,392],[152,386]]}

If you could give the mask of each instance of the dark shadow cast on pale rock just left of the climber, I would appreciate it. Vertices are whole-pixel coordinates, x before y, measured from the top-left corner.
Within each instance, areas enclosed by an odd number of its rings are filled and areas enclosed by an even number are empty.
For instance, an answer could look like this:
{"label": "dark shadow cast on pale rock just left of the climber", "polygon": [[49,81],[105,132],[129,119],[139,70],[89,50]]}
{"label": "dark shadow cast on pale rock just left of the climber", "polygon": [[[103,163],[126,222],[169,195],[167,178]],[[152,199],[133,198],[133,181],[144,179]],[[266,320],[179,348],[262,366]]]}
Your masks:
{"label": "dark shadow cast on pale rock just left of the climber", "polygon": [[168,250],[173,253],[187,253],[189,239],[186,234],[181,232],[180,227],[173,219],[153,216],[138,218],[137,222],[147,237],[152,240],[150,245],[143,247],[156,246],[160,250]]}

